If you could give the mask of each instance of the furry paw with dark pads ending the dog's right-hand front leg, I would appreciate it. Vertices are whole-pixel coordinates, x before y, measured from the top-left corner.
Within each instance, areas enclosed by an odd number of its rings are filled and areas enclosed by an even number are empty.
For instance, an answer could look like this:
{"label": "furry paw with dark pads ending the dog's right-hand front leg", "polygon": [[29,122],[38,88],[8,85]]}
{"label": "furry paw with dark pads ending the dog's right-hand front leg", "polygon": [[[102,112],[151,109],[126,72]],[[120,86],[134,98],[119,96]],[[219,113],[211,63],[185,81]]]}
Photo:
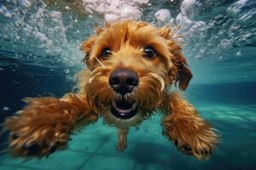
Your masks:
{"label": "furry paw with dark pads ending the dog's right-hand front leg", "polygon": [[218,135],[212,129],[206,129],[201,133],[187,133],[175,141],[177,150],[182,151],[189,156],[195,156],[197,159],[208,159],[212,156],[217,143]]}

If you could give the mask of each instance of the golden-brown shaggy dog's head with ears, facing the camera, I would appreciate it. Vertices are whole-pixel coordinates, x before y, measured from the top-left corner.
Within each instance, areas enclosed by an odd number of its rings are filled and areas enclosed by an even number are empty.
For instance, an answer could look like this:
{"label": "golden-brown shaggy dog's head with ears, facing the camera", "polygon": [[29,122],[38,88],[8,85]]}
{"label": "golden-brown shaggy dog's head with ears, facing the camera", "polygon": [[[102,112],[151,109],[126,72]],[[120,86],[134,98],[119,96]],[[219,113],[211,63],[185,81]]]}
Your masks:
{"label": "golden-brown shaggy dog's head with ears, facing the camera", "polygon": [[170,28],[131,20],[97,29],[81,47],[90,69],[85,93],[92,109],[108,113],[112,122],[139,122],[163,105],[173,82],[187,88],[192,75],[172,34]]}

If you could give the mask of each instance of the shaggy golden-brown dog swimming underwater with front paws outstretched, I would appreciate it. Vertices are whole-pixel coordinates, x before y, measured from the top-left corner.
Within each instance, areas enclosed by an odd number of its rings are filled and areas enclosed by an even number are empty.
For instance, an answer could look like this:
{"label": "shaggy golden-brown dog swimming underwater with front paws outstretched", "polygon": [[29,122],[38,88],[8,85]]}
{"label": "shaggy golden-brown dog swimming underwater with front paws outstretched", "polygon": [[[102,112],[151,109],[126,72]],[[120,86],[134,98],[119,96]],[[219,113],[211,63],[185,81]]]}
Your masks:
{"label": "shaggy golden-brown dog swimming underwater with front paws outstretched", "polygon": [[117,150],[127,147],[129,127],[160,111],[163,134],[177,149],[208,158],[218,134],[182,94],[192,78],[175,29],[123,20],[96,29],[81,45],[87,65],[79,90],[54,97],[26,98],[26,107],[6,118],[12,156],[43,157],[67,148],[77,128],[104,122],[118,128]]}

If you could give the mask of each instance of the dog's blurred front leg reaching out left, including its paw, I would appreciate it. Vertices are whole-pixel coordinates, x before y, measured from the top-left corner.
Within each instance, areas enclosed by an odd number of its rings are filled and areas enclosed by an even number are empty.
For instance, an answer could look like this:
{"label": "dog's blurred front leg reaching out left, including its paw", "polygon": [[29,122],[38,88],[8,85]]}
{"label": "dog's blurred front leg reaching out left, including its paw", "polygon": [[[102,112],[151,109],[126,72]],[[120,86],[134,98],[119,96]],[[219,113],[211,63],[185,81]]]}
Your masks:
{"label": "dog's blurred front leg reaching out left, including its paw", "polygon": [[83,95],[26,98],[26,107],[3,122],[9,131],[9,151],[13,156],[47,156],[65,149],[75,127],[95,122]]}

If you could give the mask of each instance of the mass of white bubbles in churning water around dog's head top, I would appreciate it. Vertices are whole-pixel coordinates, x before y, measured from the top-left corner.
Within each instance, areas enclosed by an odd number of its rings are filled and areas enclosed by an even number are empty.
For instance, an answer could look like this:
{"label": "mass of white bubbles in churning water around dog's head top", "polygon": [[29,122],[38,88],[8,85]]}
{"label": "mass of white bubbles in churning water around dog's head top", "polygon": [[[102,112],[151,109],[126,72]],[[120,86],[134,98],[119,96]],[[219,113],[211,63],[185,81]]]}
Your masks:
{"label": "mass of white bubbles in churning water around dog's head top", "polygon": [[[106,21],[131,19],[146,20],[156,26],[179,26],[183,51],[197,65],[201,65],[200,59],[218,63],[255,56],[253,0],[74,0],[79,9],[67,0],[53,6],[47,2],[1,1],[0,54],[50,69],[58,65],[71,75],[83,66],[84,54],[79,46],[94,27]],[[62,10],[58,8],[61,3]],[[8,63],[0,61],[0,65]]]}

